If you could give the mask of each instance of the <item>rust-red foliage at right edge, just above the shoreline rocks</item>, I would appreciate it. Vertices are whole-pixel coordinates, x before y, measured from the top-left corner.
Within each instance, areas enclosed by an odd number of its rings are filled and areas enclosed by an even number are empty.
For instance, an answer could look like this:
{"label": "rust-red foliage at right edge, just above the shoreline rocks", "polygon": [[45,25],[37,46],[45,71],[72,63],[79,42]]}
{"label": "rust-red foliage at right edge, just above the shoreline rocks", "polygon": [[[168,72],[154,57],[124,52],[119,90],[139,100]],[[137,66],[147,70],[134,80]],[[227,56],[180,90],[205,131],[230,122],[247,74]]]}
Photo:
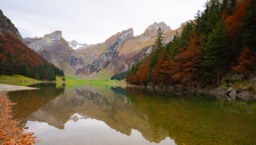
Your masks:
{"label": "rust-red foliage at right edge, just above the shoreline rocks", "polygon": [[235,71],[249,74],[252,72],[252,68],[255,66],[254,60],[256,59],[256,54],[254,51],[250,50],[249,47],[244,48],[238,57],[238,65],[233,68]]}

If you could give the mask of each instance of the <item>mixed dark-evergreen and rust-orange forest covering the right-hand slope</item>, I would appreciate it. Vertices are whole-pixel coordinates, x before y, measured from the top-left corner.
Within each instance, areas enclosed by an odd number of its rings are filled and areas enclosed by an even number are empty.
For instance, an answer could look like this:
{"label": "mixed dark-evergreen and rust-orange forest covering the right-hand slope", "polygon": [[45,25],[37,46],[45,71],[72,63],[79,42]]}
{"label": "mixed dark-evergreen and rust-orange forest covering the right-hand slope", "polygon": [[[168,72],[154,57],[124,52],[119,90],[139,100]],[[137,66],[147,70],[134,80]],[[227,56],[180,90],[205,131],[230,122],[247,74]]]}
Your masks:
{"label": "mixed dark-evergreen and rust-orange forest covering the right-hand slope", "polygon": [[127,83],[198,86],[218,84],[231,71],[255,72],[256,1],[212,0],[205,8],[166,45],[159,28],[152,52],[127,71]]}

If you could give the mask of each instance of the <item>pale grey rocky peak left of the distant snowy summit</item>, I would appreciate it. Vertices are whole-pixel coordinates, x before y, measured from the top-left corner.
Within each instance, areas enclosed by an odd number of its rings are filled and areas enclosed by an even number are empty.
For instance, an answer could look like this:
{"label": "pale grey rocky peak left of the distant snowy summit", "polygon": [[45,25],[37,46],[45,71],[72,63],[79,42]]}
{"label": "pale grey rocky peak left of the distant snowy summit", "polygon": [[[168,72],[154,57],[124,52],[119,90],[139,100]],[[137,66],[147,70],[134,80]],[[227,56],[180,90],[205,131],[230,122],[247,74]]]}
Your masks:
{"label": "pale grey rocky peak left of the distant snowy summit", "polygon": [[61,31],[46,34],[41,38],[24,38],[23,41],[50,63],[64,69],[66,74],[73,74],[75,72],[68,65],[74,50],[62,38]]}

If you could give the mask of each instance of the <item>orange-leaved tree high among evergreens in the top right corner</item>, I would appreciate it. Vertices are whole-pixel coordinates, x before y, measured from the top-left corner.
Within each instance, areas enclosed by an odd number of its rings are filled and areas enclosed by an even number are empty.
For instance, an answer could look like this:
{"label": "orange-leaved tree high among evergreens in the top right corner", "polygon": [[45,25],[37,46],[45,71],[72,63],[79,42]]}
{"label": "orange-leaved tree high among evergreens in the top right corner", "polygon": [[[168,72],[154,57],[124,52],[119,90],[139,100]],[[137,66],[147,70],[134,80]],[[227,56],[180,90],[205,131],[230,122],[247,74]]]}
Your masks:
{"label": "orange-leaved tree high among evergreens in the top right corner", "polygon": [[232,40],[237,38],[239,29],[241,27],[241,20],[245,16],[246,8],[251,0],[238,1],[237,5],[232,10],[232,15],[228,16],[225,20],[227,25],[227,33],[230,34]]}

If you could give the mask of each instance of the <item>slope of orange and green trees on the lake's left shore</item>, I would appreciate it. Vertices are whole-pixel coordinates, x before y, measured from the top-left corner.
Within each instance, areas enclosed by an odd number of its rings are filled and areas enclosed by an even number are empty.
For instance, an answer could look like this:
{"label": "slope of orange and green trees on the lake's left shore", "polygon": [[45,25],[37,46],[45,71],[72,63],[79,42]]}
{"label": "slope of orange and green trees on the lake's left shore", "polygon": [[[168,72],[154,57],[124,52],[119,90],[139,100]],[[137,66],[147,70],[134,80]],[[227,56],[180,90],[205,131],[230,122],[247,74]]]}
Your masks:
{"label": "slope of orange and green trees on the lake's left shore", "polygon": [[56,80],[63,70],[48,63],[11,34],[0,34],[0,75],[21,74],[36,80]]}

